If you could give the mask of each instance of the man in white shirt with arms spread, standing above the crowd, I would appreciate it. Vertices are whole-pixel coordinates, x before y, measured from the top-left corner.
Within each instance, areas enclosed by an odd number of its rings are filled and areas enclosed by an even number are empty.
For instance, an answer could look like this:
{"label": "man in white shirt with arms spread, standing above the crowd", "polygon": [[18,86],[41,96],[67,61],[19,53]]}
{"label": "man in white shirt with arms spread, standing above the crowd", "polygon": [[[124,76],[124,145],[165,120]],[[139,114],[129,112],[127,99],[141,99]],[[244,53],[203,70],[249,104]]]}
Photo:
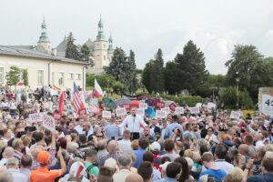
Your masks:
{"label": "man in white shirt with arms spread, standing above the crowd", "polygon": [[120,127],[126,127],[131,132],[131,139],[139,138],[139,130],[141,127],[147,126],[142,116],[136,115],[136,107],[131,108],[131,115],[126,116]]}

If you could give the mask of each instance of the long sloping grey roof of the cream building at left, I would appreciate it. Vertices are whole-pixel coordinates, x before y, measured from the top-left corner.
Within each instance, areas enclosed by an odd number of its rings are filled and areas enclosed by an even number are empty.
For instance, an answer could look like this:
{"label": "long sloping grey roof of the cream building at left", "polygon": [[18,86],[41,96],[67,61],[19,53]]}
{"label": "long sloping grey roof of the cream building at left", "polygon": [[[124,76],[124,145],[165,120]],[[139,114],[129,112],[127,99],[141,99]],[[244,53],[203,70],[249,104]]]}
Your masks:
{"label": "long sloping grey roof of the cream building at left", "polygon": [[74,59],[69,59],[69,58],[61,57],[61,56],[53,56],[53,55],[41,53],[41,52],[38,52],[35,50],[19,48],[19,47],[15,47],[15,46],[0,45],[0,55],[33,57],[33,58],[41,58],[41,59],[47,59],[47,60],[52,60],[52,61],[59,61],[59,62],[64,62],[64,63],[88,65],[84,62],[77,61]]}

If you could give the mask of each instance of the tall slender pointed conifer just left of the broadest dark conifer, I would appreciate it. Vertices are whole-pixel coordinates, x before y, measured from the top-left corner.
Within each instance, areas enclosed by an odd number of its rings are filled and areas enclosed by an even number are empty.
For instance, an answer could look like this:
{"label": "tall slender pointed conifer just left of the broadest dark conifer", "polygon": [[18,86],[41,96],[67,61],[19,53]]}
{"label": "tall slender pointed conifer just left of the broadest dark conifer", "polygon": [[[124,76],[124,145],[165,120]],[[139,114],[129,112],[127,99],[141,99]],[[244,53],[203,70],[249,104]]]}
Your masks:
{"label": "tall slender pointed conifer just left of the broadest dark conifer", "polygon": [[165,91],[164,60],[162,50],[159,48],[150,75],[150,88],[155,92]]}

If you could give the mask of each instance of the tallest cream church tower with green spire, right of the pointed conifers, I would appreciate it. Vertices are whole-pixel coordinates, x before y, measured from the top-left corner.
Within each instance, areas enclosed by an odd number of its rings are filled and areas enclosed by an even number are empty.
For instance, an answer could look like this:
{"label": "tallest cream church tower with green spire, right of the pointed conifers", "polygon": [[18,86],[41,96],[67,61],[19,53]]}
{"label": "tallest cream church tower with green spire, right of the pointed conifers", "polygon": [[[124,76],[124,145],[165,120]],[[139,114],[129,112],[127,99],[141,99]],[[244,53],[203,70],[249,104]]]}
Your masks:
{"label": "tallest cream church tower with green spire, right of the pointed conifers", "polygon": [[108,42],[104,35],[104,25],[100,16],[98,22],[98,33],[96,35],[96,41],[94,41],[94,61],[95,68],[101,69],[104,66],[109,66],[108,58]]}

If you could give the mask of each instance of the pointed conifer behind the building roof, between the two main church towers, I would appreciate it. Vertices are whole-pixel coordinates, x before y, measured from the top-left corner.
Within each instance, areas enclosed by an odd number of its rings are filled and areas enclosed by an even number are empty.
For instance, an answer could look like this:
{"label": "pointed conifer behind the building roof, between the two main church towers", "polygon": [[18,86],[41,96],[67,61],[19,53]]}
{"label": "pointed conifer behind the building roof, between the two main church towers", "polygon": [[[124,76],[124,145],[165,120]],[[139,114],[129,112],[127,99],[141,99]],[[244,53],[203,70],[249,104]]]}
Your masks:
{"label": "pointed conifer behind the building roof, between the two main church towers", "polygon": [[66,58],[75,59],[80,61],[81,55],[78,51],[77,46],[74,44],[75,38],[72,35],[72,32],[67,37],[67,44],[66,44]]}

